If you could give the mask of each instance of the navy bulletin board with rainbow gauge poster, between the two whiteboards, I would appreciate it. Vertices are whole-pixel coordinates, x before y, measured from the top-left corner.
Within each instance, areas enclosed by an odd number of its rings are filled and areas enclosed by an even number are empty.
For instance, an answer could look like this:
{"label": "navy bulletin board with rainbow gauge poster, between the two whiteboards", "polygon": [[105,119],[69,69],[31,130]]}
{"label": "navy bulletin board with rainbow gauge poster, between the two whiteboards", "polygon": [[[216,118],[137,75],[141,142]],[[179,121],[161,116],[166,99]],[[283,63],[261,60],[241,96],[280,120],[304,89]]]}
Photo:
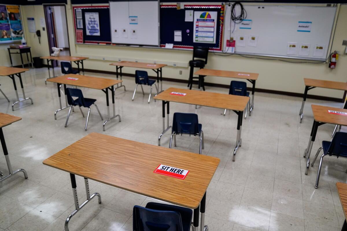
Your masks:
{"label": "navy bulletin board with rainbow gauge poster, between the two whiteboards", "polygon": [[160,46],[193,49],[194,46],[222,50],[224,5],[160,6]]}

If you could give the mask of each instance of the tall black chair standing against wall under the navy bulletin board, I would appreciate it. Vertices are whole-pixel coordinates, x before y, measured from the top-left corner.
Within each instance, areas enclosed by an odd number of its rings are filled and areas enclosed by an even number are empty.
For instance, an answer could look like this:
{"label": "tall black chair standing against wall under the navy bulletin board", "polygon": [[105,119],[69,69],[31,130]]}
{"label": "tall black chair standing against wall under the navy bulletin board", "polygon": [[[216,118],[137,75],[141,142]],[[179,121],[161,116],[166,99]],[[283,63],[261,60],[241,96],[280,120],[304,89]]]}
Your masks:
{"label": "tall black chair standing against wall under the navy bulletin board", "polygon": [[[207,56],[209,54],[209,48],[208,47],[201,47],[201,46],[194,46],[193,48],[193,60],[189,61],[189,66],[191,67],[191,70],[189,72],[189,80],[188,80],[188,87],[189,89],[192,89],[193,86],[193,79],[199,79],[198,81],[198,87],[202,86],[202,88],[205,90],[204,86],[204,78],[200,77],[193,77],[194,74],[194,68],[204,68],[205,64],[207,64]],[[198,58],[198,59],[196,59]],[[204,59],[204,60],[202,60]]]}

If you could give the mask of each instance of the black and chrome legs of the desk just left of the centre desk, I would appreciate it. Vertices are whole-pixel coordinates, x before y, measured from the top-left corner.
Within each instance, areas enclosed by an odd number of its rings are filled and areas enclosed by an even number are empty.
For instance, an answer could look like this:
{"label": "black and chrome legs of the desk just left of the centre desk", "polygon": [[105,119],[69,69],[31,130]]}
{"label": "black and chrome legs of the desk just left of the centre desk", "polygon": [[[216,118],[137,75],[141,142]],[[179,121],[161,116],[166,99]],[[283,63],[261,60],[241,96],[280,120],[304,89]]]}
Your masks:
{"label": "black and chrome legs of the desk just left of the centre desk", "polygon": [[[67,91],[66,91],[66,84],[64,84],[64,94],[65,94],[65,107],[61,106],[61,94],[60,94],[60,85],[61,83],[57,83],[57,88],[58,88],[58,96],[59,96],[59,105],[60,108],[54,112],[54,119],[57,119],[57,113],[60,112],[61,110],[64,110],[66,108],[69,108],[68,103],[67,103]],[[113,116],[110,117],[110,104],[109,104],[109,93],[108,90],[111,91],[111,96],[112,96],[112,107],[113,107]],[[110,121],[113,118],[119,117],[119,122],[121,122],[121,117],[120,115],[116,115],[116,108],[115,108],[115,87],[111,86],[105,89],[102,89],[102,91],[106,94],[106,105],[107,105],[107,119],[103,122],[102,128],[103,131],[105,131],[105,125],[108,121]]]}

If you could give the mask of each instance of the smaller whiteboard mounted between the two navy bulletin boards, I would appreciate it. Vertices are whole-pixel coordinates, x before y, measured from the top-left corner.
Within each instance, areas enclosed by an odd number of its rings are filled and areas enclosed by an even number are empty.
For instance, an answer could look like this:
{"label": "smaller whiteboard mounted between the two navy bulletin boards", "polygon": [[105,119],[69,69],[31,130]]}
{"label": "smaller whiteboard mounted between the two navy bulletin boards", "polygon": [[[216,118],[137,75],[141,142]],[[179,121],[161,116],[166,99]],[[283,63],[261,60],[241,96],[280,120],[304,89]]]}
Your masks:
{"label": "smaller whiteboard mounted between the two navy bulletin boards", "polygon": [[110,2],[112,43],[159,46],[158,1]]}

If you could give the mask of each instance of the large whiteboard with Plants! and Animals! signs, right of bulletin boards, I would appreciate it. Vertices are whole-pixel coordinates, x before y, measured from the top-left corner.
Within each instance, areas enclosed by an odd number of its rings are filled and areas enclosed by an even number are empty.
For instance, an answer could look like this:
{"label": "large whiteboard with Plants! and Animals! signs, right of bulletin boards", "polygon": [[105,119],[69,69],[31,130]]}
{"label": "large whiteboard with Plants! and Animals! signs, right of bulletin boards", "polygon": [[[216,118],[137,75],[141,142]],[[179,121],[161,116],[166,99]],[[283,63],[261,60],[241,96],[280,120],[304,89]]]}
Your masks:
{"label": "large whiteboard with Plants! and Animals! signs, right of bulletin boards", "polygon": [[[251,25],[230,23],[231,6],[226,6],[224,52],[231,53],[232,48],[227,47],[227,40],[233,37],[235,53],[239,54],[309,60],[327,58],[336,7],[265,4],[244,5],[244,9],[246,19],[251,20],[244,22]],[[236,14],[239,15],[238,12]]]}

